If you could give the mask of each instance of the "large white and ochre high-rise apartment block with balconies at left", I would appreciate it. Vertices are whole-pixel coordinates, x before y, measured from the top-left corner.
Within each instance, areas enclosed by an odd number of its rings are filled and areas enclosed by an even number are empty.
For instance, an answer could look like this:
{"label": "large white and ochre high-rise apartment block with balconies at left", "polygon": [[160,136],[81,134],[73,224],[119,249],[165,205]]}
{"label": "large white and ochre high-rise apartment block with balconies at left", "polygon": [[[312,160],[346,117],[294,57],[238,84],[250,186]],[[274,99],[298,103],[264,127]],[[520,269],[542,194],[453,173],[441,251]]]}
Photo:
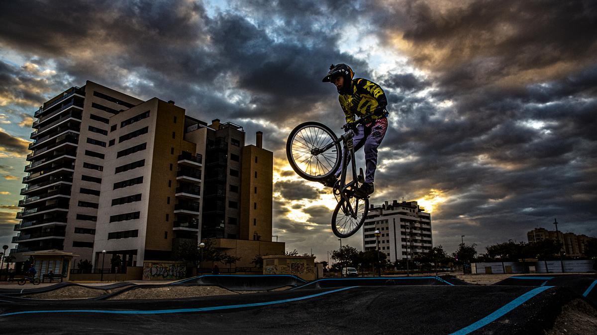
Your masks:
{"label": "large white and ochre high-rise apartment block with balconies at left", "polygon": [[[202,232],[271,241],[273,154],[261,148],[260,132],[259,145],[245,146],[241,126],[217,119],[208,126],[174,101],[142,101],[89,81],[35,117],[11,250],[17,268],[23,252],[48,249],[96,268],[115,255],[123,267],[175,260],[177,244],[198,243]],[[247,243],[242,248],[284,253],[284,243]]]}

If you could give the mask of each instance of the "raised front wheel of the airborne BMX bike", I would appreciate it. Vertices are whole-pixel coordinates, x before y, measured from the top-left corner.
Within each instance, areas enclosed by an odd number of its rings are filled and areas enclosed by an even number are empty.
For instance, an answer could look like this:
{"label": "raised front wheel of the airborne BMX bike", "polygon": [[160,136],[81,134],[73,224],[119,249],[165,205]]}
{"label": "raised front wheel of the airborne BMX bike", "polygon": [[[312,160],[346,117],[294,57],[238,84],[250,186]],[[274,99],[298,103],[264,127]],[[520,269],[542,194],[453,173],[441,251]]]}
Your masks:
{"label": "raised front wheel of the airborne BMX bike", "polygon": [[341,147],[336,143],[327,151],[318,150],[337,141],[336,134],[319,122],[304,122],[296,126],[286,141],[288,163],[297,175],[309,181],[322,181],[340,166]]}

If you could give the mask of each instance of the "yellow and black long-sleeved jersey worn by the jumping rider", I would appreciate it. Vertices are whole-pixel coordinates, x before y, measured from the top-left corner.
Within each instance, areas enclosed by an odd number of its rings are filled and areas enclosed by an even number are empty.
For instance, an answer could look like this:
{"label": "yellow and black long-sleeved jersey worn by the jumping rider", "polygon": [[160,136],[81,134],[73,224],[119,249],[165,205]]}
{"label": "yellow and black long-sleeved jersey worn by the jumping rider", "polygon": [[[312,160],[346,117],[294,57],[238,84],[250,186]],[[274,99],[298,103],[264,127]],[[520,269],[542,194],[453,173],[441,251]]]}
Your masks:
{"label": "yellow and black long-sleeved jersey worn by the jumping rider", "polygon": [[[386,94],[379,85],[364,78],[352,80],[352,94],[340,94],[338,97],[340,106],[346,115],[346,122],[354,122],[355,115],[363,117],[373,113],[378,107],[385,108],[387,105]],[[379,119],[384,115],[373,116]]]}

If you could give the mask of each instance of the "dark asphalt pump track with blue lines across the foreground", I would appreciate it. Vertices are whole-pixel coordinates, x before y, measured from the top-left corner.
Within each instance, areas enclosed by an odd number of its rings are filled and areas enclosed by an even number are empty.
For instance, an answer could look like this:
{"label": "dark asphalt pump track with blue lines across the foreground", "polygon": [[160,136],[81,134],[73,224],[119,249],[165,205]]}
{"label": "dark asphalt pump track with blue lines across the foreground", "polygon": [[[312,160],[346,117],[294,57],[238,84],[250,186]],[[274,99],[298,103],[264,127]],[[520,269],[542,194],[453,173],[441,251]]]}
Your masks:
{"label": "dark asphalt pump track with blue lines across the foreground", "polygon": [[[450,275],[310,282],[293,275],[201,275],[162,285],[60,283],[0,290],[0,333],[597,334],[596,285],[595,274],[513,275],[489,286]],[[69,287],[110,293],[32,298]],[[119,298],[135,290],[201,287],[234,294]]]}

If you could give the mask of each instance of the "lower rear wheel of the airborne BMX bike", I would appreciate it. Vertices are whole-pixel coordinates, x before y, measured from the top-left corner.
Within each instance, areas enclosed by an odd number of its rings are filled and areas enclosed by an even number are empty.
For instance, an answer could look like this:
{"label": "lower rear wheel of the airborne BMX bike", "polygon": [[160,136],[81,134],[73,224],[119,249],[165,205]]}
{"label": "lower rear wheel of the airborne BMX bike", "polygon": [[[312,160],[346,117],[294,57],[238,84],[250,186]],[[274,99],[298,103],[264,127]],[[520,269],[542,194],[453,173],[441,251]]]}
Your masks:
{"label": "lower rear wheel of the airborne BMX bike", "polygon": [[340,238],[347,238],[359,231],[367,213],[369,212],[369,199],[350,197],[342,198],[332,214],[332,231]]}

